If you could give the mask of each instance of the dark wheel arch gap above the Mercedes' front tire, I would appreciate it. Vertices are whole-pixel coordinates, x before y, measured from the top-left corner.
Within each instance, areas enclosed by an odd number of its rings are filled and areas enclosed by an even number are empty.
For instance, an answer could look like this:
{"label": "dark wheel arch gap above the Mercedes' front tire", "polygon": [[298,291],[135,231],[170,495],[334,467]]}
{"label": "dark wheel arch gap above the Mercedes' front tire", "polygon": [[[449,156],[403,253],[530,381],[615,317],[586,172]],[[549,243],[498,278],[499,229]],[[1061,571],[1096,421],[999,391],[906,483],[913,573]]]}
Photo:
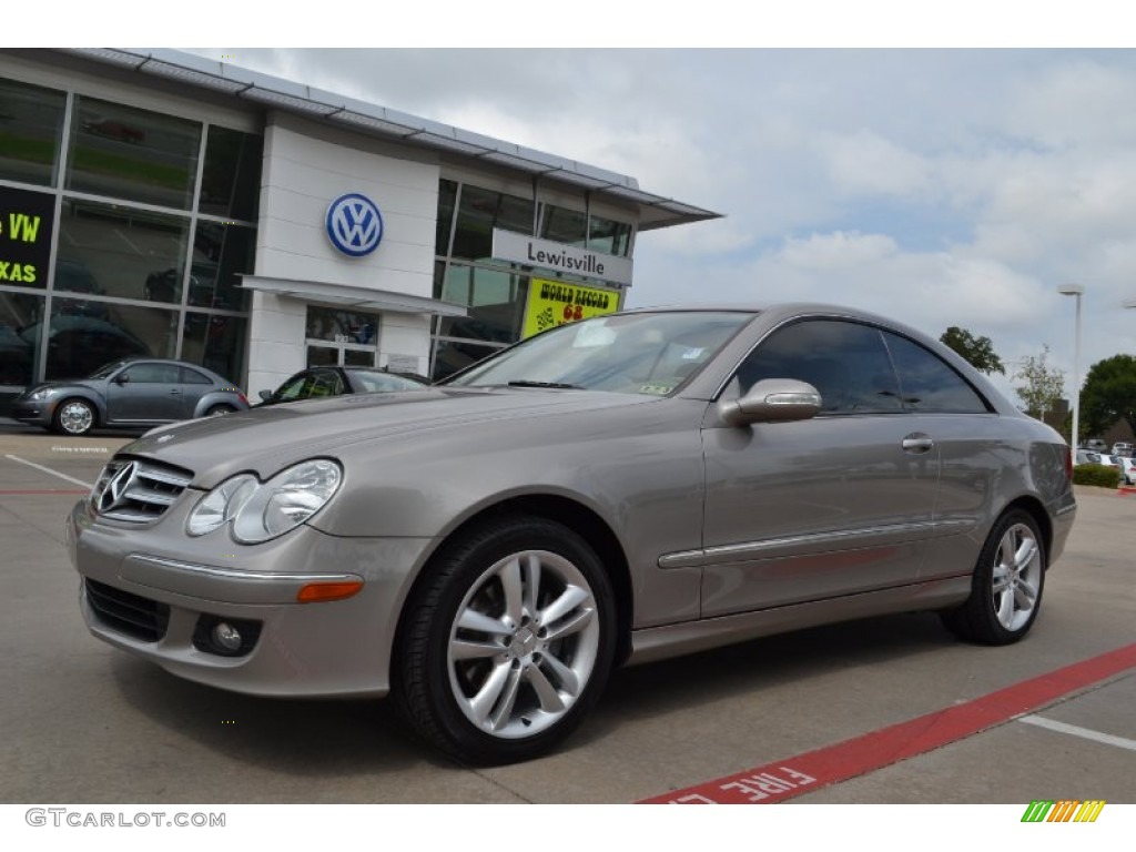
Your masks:
{"label": "dark wheel arch gap above the Mercedes' front tire", "polygon": [[399,637],[402,635],[403,619],[408,611],[407,603],[415,599],[419,588],[428,580],[433,563],[445,551],[446,545],[484,524],[513,516],[544,518],[562,524],[573,532],[582,535],[595,550],[596,556],[608,571],[608,578],[611,580],[611,587],[616,594],[617,635],[615,666],[620,666],[627,660],[632,650],[630,628],[634,615],[630,568],[627,562],[627,556],[615,531],[600,515],[583,503],[560,494],[521,494],[506,498],[490,506],[482,507],[478,511],[450,529],[426,558],[403,599],[403,605],[399,613],[399,624],[395,627],[391,644],[392,655],[395,653]]}

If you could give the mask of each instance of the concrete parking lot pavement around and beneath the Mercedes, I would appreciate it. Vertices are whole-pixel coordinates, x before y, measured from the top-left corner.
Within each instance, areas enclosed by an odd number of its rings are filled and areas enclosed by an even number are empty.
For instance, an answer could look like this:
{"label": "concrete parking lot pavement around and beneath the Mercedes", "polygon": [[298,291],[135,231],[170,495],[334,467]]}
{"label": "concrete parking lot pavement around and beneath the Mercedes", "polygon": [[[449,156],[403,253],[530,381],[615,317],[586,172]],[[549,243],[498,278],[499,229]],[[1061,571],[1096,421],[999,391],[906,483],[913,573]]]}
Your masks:
{"label": "concrete parking lot pavement around and beneath the Mercedes", "polygon": [[1078,492],[1017,645],[910,615],[625,669],[567,747],[474,770],[383,702],[233,695],[92,638],[62,521],[124,441],[0,423],[0,802],[1136,802],[1136,495]]}

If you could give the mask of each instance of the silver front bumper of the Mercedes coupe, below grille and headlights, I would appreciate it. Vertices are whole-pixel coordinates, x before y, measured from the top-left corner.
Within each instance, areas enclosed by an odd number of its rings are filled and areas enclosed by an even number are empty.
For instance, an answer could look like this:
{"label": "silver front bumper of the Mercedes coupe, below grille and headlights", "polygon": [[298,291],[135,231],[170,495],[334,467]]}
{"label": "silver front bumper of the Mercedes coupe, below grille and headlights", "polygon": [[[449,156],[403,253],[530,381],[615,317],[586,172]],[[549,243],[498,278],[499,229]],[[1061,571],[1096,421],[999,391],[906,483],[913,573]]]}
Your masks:
{"label": "silver front bumper of the Mercedes coupe, below grille and headlights", "polygon": [[[340,538],[308,526],[253,546],[234,544],[224,529],[190,538],[182,531],[192,502],[148,525],[101,519],[86,500],[72,510],[68,551],[94,636],[234,692],[387,693],[399,612],[429,538]],[[296,603],[306,584],[343,579],[362,580],[362,590]],[[202,635],[219,620],[254,626],[251,646],[237,655],[210,649]]]}

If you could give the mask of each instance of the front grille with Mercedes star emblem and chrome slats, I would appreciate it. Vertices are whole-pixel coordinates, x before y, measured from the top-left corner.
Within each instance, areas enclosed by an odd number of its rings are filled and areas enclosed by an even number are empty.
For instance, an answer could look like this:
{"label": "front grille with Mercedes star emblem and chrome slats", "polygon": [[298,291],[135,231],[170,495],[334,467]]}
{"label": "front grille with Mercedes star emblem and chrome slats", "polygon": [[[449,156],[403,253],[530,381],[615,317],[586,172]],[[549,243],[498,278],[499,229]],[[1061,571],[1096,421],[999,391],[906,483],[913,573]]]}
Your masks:
{"label": "front grille with Mercedes star emblem and chrome slats", "polygon": [[143,524],[160,518],[192,479],[182,468],[116,458],[99,475],[91,506],[103,518]]}

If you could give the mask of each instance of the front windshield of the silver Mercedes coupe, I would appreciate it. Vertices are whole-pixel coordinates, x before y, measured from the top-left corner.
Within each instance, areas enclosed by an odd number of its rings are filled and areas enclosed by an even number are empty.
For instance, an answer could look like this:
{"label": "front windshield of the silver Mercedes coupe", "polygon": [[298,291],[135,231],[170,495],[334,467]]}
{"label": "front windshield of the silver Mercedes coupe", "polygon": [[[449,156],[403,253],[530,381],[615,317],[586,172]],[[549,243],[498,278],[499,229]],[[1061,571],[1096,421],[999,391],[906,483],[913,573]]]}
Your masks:
{"label": "front windshield of the silver Mercedes coupe", "polygon": [[445,382],[666,395],[753,318],[743,311],[619,314],[560,326]]}

